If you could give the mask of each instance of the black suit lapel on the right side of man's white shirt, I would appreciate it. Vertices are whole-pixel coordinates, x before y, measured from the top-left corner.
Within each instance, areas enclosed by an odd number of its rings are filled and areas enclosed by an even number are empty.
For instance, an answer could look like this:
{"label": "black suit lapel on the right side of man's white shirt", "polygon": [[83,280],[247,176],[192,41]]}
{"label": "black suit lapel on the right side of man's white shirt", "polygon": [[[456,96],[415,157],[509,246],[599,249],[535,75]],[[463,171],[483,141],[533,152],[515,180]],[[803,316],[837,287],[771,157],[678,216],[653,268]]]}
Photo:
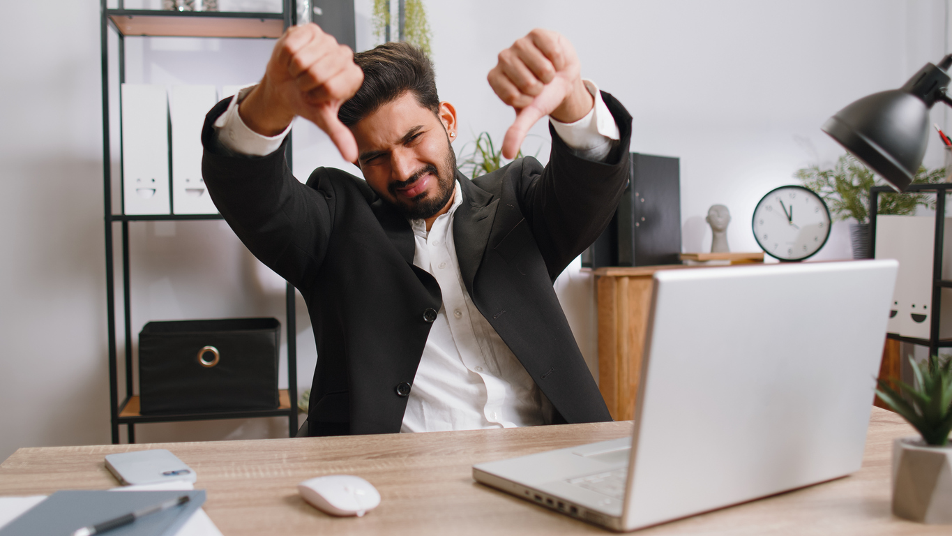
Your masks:
{"label": "black suit lapel on the right side of man's white shirt", "polygon": [[456,171],[456,180],[463,190],[463,204],[453,215],[453,240],[456,242],[456,257],[460,262],[463,282],[472,296],[473,280],[486,251],[499,200],[474,185],[459,170]]}

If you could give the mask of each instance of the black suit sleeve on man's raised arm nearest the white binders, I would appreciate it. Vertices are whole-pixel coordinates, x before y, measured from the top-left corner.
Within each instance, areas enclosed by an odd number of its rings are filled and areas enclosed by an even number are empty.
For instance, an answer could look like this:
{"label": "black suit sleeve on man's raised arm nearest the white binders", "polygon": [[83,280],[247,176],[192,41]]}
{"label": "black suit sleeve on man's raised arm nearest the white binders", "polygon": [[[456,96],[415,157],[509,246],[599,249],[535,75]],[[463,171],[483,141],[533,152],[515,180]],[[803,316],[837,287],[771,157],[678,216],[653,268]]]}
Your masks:
{"label": "black suit sleeve on man's raised arm nearest the white binders", "polygon": [[332,185],[315,181],[311,188],[294,178],[285,160],[287,139],[266,156],[236,155],[226,149],[212,125],[227,108],[228,99],[218,103],[202,129],[202,175],[208,193],[251,253],[291,285],[303,288],[327,251]]}

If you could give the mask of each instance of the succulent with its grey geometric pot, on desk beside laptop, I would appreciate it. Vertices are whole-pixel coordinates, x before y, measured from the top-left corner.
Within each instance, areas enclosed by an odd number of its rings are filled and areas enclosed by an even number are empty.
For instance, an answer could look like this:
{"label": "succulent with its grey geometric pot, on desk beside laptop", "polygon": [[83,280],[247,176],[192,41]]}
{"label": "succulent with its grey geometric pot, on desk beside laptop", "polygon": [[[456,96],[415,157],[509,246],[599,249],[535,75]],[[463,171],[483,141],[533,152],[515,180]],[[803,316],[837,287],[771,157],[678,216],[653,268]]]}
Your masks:
{"label": "succulent with its grey geometric pot, on desk beside laptop", "polygon": [[926,524],[952,524],[952,359],[912,361],[916,387],[899,380],[877,380],[876,394],[915,427],[922,437],[893,443],[892,510]]}

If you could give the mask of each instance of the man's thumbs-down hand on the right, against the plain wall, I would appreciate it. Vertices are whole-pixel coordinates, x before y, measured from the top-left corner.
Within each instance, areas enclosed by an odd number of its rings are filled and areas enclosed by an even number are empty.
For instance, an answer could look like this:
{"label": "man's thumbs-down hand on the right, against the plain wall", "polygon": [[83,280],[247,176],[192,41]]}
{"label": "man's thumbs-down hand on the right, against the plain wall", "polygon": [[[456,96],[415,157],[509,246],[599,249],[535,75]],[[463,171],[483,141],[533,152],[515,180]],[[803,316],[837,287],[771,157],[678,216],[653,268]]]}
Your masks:
{"label": "man's thumbs-down hand on the right, against the plain wall", "polygon": [[516,109],[503,139],[504,157],[515,158],[526,132],[546,115],[574,123],[591,111],[595,100],[580,72],[575,48],[551,30],[532,30],[499,53],[499,63],[486,78],[499,98]]}

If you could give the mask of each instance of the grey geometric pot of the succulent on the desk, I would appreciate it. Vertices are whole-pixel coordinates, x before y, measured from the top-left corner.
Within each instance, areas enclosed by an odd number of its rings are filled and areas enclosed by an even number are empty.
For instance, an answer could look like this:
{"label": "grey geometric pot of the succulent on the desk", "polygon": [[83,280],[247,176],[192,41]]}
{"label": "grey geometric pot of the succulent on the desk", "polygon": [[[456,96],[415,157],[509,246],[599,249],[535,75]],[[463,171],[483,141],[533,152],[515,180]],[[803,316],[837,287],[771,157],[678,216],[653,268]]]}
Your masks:
{"label": "grey geometric pot of the succulent on the desk", "polygon": [[952,446],[920,437],[893,442],[893,513],[928,525],[952,524]]}

